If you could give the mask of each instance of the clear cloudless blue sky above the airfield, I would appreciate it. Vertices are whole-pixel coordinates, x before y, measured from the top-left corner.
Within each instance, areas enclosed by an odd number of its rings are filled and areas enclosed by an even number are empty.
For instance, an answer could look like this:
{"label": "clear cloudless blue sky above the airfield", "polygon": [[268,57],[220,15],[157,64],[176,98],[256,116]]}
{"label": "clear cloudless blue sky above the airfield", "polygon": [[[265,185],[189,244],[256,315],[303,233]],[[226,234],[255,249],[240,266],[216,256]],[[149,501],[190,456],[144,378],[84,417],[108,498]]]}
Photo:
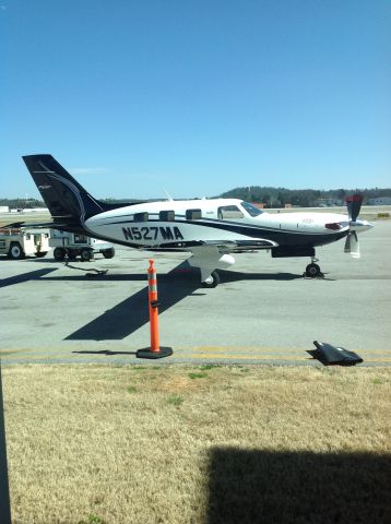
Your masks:
{"label": "clear cloudless blue sky above the airfield", "polygon": [[0,0],[3,198],[391,187],[389,0]]}

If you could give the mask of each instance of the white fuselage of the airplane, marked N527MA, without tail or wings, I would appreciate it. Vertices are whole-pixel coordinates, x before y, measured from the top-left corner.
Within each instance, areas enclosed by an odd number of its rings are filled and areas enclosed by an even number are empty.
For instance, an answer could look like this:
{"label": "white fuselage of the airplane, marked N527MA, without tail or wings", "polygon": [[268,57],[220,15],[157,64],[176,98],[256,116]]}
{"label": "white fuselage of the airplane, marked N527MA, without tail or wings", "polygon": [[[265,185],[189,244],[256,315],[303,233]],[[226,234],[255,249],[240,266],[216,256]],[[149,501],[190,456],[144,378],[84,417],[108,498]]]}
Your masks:
{"label": "white fuselage of the airplane, marked N527MA, without tail or wings", "polygon": [[[370,227],[360,223],[360,230]],[[129,205],[99,213],[86,219],[85,227],[94,237],[152,250],[186,249],[221,239],[270,240],[264,246],[270,249],[333,242],[347,235],[348,218],[336,213],[266,213],[240,200],[211,199]]]}

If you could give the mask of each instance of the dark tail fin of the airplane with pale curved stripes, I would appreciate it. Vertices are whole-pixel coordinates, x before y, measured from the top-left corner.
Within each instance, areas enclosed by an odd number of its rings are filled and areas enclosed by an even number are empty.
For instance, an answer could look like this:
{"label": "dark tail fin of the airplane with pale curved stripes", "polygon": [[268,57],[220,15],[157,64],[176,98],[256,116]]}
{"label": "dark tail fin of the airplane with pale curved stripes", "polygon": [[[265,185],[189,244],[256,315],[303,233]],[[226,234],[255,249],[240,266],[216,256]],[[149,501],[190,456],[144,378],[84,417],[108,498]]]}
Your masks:
{"label": "dark tail fin of the airplane with pale curved stripes", "polygon": [[82,225],[109,209],[96,201],[51,155],[28,155],[23,160],[55,223]]}

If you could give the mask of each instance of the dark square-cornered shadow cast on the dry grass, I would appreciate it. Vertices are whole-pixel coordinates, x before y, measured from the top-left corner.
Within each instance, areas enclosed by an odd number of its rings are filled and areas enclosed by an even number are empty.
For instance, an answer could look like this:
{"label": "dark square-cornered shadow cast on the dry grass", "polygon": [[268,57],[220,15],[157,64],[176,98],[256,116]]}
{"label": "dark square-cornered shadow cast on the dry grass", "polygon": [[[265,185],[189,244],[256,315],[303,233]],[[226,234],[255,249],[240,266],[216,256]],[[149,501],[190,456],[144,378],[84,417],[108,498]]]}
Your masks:
{"label": "dark square-cornered shadow cast on the dry grass", "polygon": [[369,452],[209,452],[208,524],[391,522],[391,456]]}

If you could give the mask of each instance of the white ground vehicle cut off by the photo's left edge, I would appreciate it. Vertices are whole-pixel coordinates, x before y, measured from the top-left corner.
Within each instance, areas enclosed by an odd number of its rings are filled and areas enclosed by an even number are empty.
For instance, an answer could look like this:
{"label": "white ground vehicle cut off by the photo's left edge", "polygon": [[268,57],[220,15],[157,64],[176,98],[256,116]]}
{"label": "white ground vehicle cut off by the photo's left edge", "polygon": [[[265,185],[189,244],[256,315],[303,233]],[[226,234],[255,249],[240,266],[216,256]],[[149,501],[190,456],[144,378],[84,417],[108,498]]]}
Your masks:
{"label": "white ground vehicle cut off by the photo's left edge", "polygon": [[0,254],[10,259],[42,258],[49,249],[49,229],[0,228]]}

